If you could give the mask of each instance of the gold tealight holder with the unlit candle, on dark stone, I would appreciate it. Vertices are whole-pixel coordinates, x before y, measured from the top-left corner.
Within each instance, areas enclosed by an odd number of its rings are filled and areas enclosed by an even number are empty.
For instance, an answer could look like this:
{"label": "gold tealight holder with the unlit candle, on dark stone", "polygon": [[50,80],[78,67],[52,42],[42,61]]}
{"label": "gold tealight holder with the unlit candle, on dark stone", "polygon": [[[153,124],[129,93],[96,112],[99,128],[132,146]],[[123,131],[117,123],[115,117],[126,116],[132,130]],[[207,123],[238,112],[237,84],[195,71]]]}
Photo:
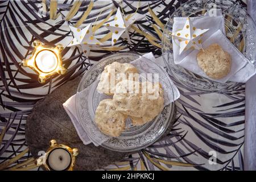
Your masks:
{"label": "gold tealight holder with the unlit candle, on dark stone", "polygon": [[35,160],[36,166],[44,166],[48,171],[73,171],[79,150],[57,144],[54,139],[49,142],[49,145],[46,154]]}

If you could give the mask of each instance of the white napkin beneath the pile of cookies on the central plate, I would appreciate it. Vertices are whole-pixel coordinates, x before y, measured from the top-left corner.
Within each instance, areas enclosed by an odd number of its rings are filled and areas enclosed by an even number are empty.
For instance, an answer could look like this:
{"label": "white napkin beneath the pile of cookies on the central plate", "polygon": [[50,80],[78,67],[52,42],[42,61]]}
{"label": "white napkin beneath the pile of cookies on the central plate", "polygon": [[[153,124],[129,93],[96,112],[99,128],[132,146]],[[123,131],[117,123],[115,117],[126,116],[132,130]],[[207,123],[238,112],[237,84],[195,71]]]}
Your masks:
{"label": "white napkin beneath the pile of cookies on the central plate", "polygon": [[[143,55],[139,59],[132,61],[131,64],[133,64],[138,69],[139,73],[159,73],[159,66],[156,66],[156,64],[154,63],[155,61],[156,60],[154,55],[150,52],[150,53],[147,53],[146,55]],[[171,102],[174,102],[175,100],[177,100],[177,98],[180,97],[180,93],[179,93],[179,90],[174,85],[174,83],[171,81],[170,77],[166,77],[165,73],[163,74],[161,74],[161,72],[159,73],[159,82],[163,86],[164,105],[166,106]],[[90,90],[93,86],[95,86],[94,84],[97,85],[98,80],[94,81],[90,86],[88,86],[86,89],[82,90],[82,92],[77,94],[90,95]],[[98,133],[100,136],[93,136],[94,138],[90,139],[89,134],[87,134],[86,128],[84,127],[86,126],[86,121],[79,121],[77,117],[77,110],[76,110],[76,97],[78,97],[77,94],[69,98],[63,104],[63,107],[67,112],[67,114],[69,115],[69,118],[71,118],[71,121],[75,126],[77,134],[79,135],[82,142],[84,144],[89,144],[92,142],[95,146],[98,146],[99,144],[108,140],[110,137],[102,133]],[[106,96],[105,94],[101,94],[100,98],[101,100],[104,100],[106,97],[109,98],[109,96]],[[90,115],[92,118],[94,118],[93,113],[90,113]],[[85,122],[85,123],[81,123],[81,122]]]}

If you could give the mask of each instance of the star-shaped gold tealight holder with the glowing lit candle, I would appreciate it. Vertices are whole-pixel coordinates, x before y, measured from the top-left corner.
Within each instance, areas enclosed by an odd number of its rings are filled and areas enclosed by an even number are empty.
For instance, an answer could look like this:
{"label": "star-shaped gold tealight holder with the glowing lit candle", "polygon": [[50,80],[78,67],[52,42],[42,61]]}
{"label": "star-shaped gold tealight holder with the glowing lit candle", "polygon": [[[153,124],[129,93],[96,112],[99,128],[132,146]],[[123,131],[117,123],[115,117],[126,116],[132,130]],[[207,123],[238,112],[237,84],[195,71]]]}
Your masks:
{"label": "star-shaped gold tealight holder with the glowing lit candle", "polygon": [[56,47],[43,46],[39,40],[33,42],[35,47],[30,59],[23,60],[23,67],[29,67],[38,73],[38,81],[40,83],[54,74],[63,75],[67,69],[62,66],[61,51],[63,45],[58,44]]}

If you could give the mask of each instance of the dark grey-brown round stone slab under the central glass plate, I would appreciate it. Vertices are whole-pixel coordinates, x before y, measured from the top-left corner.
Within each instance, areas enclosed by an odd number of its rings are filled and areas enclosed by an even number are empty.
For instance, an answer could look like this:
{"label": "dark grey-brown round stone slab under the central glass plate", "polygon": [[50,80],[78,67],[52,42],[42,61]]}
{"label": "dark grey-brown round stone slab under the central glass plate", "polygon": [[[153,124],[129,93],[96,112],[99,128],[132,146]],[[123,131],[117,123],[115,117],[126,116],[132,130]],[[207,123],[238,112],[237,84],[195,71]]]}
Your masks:
{"label": "dark grey-brown round stone slab under the central glass plate", "polygon": [[[75,170],[100,169],[118,162],[132,153],[115,152],[101,146],[96,147],[94,144],[85,145],[82,143],[62,105],[76,93],[80,80],[81,76],[68,81],[35,104],[32,113],[27,118],[26,142],[32,156],[36,159],[39,157],[38,152],[46,151],[49,147],[49,141],[56,139],[57,143],[79,148]],[[163,137],[170,133],[175,114]]]}

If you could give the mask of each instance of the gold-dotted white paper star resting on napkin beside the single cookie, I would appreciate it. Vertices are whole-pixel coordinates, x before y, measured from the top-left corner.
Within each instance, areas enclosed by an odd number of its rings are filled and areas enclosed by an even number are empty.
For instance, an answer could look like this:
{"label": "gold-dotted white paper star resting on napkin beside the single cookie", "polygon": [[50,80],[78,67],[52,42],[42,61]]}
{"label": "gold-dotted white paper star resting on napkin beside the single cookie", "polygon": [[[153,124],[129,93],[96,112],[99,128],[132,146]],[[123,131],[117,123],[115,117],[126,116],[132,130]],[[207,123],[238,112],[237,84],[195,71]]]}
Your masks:
{"label": "gold-dotted white paper star resting on napkin beside the single cookie", "polygon": [[180,54],[189,48],[203,50],[201,36],[208,30],[196,28],[191,19],[187,18],[183,29],[172,33],[172,36],[180,42]]}

